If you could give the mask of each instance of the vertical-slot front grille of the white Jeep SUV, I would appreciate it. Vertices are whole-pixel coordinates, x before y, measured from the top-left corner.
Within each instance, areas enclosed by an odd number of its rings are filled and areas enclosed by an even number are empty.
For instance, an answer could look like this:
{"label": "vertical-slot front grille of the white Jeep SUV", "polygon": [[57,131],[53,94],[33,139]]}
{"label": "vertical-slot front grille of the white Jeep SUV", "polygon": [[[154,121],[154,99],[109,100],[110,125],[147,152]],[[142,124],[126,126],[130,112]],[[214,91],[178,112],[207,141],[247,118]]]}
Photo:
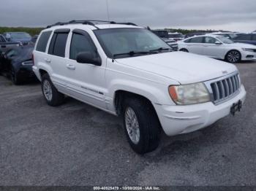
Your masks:
{"label": "vertical-slot front grille of the white Jeep SUV", "polygon": [[211,90],[213,93],[214,103],[223,101],[235,95],[241,86],[240,77],[235,74],[231,77],[211,83]]}

